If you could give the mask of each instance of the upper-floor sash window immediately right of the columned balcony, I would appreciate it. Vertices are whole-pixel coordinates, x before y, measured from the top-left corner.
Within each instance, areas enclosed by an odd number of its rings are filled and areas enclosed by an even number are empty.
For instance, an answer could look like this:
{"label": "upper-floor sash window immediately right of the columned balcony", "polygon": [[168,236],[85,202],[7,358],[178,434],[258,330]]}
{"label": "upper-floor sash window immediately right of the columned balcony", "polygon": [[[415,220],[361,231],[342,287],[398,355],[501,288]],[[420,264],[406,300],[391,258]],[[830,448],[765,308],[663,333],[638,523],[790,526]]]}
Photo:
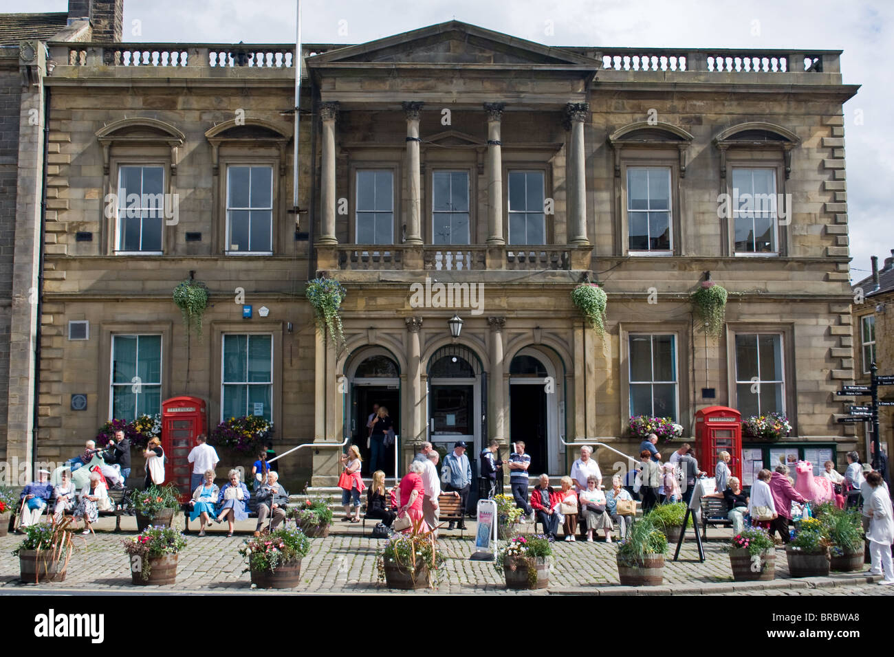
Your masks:
{"label": "upper-floor sash window immediately right of the columned balcony", "polygon": [[630,166],[627,170],[628,250],[670,251],[671,170]]}

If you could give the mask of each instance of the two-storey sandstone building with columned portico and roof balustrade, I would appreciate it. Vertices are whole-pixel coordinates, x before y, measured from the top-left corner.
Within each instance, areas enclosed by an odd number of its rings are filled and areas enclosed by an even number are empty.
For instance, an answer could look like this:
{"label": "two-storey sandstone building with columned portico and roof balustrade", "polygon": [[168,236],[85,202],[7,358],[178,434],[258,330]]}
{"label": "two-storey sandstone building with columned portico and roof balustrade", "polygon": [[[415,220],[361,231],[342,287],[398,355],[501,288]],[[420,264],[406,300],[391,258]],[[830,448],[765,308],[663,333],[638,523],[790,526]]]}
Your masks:
{"label": "two-storey sandstone building with columned portico and roof balustrade", "polygon": [[[788,415],[752,461],[855,444],[834,418],[854,378],[838,52],[560,48],[459,21],[305,46],[296,211],[293,46],[49,50],[40,459],[181,394],[210,425],[244,402],[277,451],[313,443],[283,459],[291,485],[333,484],[345,441],[366,457],[374,403],[389,475],[457,439],[523,440],[552,475],[601,442],[611,472],[631,415],[691,436],[712,405]],[[122,181],[176,195],[176,221],[109,211]],[[751,193],[786,200],[721,216]],[[343,342],[304,298],[318,275],[347,291]],[[171,300],[190,276],[201,340]],[[706,278],[730,291],[717,339],[689,300]],[[580,282],[608,295],[602,334]]]}

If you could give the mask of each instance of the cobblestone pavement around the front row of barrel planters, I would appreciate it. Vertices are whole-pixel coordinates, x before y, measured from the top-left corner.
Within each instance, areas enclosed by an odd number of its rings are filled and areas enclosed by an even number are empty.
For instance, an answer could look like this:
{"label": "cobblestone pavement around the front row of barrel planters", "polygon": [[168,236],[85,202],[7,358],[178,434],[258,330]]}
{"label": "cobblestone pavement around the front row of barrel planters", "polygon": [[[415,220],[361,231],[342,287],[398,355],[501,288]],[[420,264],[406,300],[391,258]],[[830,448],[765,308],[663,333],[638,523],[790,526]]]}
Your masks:
{"label": "cobblestone pavement around the front row of barrel planters", "polygon": [[[122,522],[124,531],[121,534],[100,532],[77,540],[80,548],[72,557],[65,581],[60,583],[21,583],[19,560],[11,554],[21,542],[21,536],[0,537],[0,594],[72,591],[224,594],[249,591],[249,574],[242,572],[244,566],[238,552],[247,534],[226,538],[225,531],[219,529],[202,538],[194,533],[188,535],[189,544],[181,552],[176,585],[131,585],[129,560],[121,545],[122,539],[133,535],[129,523],[133,523],[132,518],[125,518]],[[475,526],[471,522],[468,525],[473,528]],[[333,527],[337,533],[328,538],[311,539],[310,554],[301,566],[302,585],[295,592],[387,592],[384,583],[377,583],[375,552],[382,542],[367,537],[371,527],[367,526],[367,535],[362,534],[359,526]],[[253,524],[245,523],[237,527],[249,531],[253,528]],[[877,577],[860,573],[790,578],[785,554],[781,551],[777,552],[775,581],[734,583],[730,560],[725,552],[730,530],[716,529],[709,530],[711,540],[704,543],[704,563],[698,562],[694,540],[689,539],[684,543],[677,562],[672,560],[674,546],[671,546],[671,553],[665,561],[662,586],[620,586],[615,545],[578,541],[555,543],[555,564],[547,591],[507,592],[502,573],[498,573],[492,563],[468,560],[469,555],[474,552],[474,535],[474,531],[467,531],[465,538],[460,540],[459,532],[442,533],[439,545],[447,557],[447,563],[440,585],[434,591],[419,591],[417,594],[894,594],[891,590],[894,586],[876,585],[874,581]]]}

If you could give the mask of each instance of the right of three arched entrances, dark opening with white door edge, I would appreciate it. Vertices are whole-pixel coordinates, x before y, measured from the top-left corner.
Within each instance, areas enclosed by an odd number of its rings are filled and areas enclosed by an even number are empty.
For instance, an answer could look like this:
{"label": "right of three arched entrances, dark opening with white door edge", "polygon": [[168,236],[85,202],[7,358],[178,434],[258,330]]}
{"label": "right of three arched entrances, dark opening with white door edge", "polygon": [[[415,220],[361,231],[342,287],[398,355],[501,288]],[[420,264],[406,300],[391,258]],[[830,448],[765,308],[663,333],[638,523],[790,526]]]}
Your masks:
{"label": "right of three arched entrances, dark opening with white door edge", "polygon": [[509,375],[510,442],[525,442],[532,476],[564,473],[559,441],[564,373],[558,376],[551,358],[526,347],[512,358]]}

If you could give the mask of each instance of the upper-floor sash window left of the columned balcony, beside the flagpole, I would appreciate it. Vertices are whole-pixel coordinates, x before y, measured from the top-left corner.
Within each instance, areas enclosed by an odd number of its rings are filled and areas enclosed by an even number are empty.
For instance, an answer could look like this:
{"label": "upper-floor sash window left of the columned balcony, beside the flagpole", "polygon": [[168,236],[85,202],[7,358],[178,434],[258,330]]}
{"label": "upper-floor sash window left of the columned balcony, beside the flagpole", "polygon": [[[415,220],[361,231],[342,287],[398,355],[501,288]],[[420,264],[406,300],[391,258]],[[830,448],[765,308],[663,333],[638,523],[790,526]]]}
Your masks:
{"label": "upper-floor sash window left of the columned balcony, beside the flagpole", "polygon": [[272,166],[228,166],[226,183],[226,250],[228,253],[272,253],[274,235],[274,169]]}

